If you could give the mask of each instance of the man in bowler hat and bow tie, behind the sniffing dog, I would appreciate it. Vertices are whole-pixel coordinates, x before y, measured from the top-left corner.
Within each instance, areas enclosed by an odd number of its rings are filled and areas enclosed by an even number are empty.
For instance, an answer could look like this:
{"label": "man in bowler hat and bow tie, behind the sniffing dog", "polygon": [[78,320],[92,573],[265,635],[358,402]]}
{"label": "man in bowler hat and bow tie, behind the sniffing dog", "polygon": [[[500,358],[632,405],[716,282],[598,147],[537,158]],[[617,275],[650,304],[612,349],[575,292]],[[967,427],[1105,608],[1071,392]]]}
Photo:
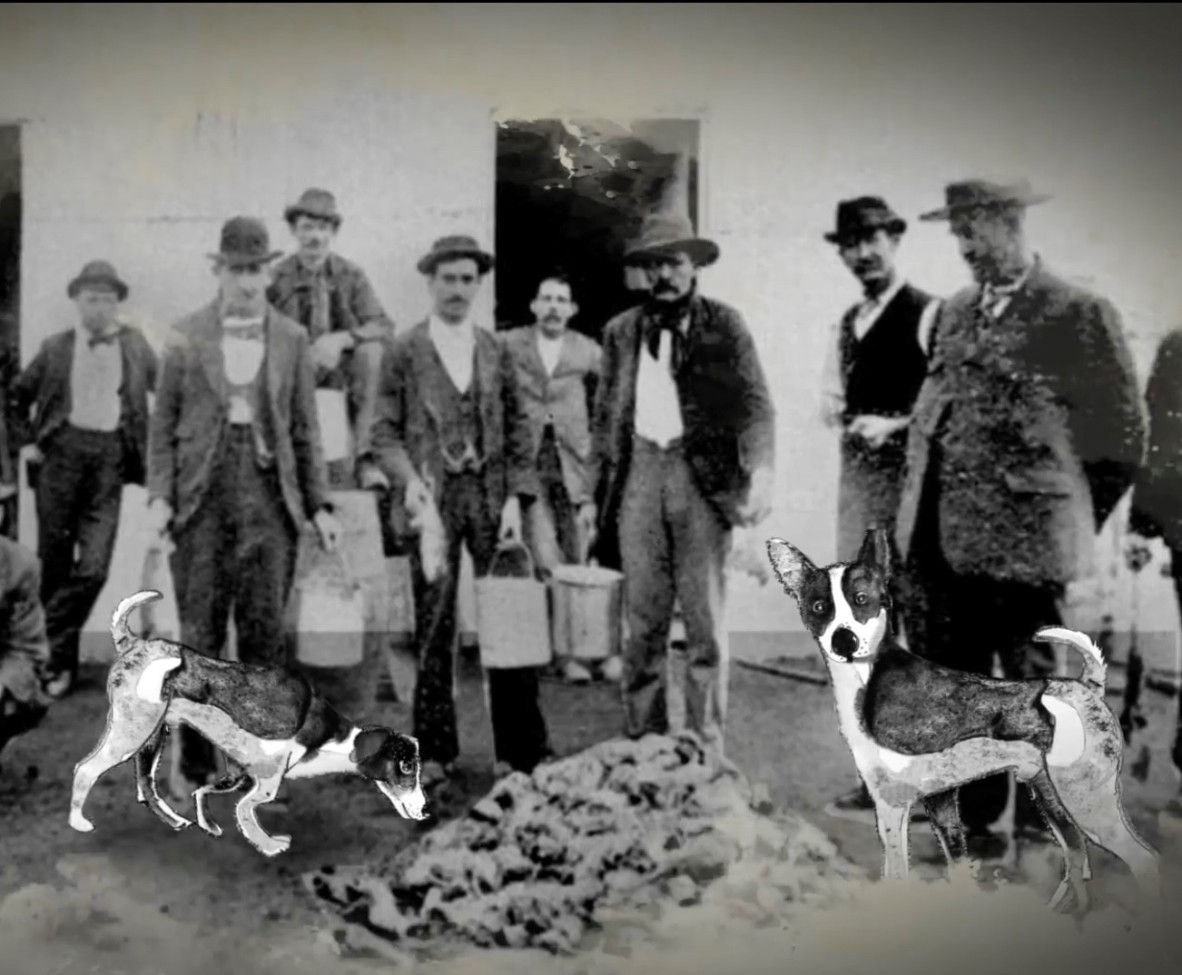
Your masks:
{"label": "man in bowler hat and bow tie, behind the sniffing dog", "polygon": [[[174,545],[181,639],[221,656],[234,612],[245,663],[286,663],[285,611],[297,545],[311,522],[326,548],[327,500],[307,333],[267,304],[278,253],[253,217],[228,220],[209,255],[217,295],[178,321],[151,416],[149,518]],[[214,772],[187,729],[177,798]]]}

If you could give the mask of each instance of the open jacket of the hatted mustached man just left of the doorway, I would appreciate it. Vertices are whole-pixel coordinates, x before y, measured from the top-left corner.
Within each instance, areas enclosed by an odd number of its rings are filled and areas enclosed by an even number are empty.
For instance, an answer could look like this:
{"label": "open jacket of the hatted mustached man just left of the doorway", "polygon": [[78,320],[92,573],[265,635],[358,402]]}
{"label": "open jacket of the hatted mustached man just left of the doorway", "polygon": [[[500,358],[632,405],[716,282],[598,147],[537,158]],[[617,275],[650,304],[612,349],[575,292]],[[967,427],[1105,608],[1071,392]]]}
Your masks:
{"label": "open jacket of the hatted mustached man just left of the doorway", "polygon": [[[480,389],[485,496],[489,511],[499,514],[508,495],[537,494],[537,473],[513,357],[494,333],[479,327],[474,331],[473,376]],[[429,364],[434,368],[428,369]],[[444,472],[439,429],[443,407],[439,386],[428,379],[436,369],[442,370],[443,362],[427,321],[400,336],[382,362],[371,449],[361,460],[377,461],[398,501],[417,475],[434,481],[435,503],[440,503]],[[401,515],[405,512],[401,511]]]}

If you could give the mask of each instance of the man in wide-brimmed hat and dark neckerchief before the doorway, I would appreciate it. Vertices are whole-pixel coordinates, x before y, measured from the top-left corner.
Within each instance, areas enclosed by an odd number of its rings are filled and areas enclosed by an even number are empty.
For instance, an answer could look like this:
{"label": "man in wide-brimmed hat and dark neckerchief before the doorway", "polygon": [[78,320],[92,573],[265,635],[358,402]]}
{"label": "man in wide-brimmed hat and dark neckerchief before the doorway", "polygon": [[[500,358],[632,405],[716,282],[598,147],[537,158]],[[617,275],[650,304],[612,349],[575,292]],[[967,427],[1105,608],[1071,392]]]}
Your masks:
{"label": "man in wide-brimmed hat and dark neckerchief before the doorway", "polygon": [[725,567],[732,532],[771,509],[772,397],[740,313],[707,298],[719,247],[689,221],[648,216],[625,260],[647,300],[608,323],[596,396],[596,555],[625,580],[625,733],[668,732],[675,603],[686,630],[687,724],[722,746],[728,680]]}

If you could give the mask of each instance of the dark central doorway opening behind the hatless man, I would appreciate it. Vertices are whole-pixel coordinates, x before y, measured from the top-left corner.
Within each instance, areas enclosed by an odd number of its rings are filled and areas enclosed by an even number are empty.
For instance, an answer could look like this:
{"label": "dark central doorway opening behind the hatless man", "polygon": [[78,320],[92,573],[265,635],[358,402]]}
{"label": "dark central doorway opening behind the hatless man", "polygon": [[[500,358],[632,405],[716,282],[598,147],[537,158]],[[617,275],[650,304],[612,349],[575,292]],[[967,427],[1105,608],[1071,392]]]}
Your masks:
{"label": "dark central doorway opening behind the hatless man", "polygon": [[496,135],[496,327],[528,325],[538,282],[564,271],[579,314],[598,339],[636,304],[622,265],[625,243],[654,210],[697,227],[696,119],[533,119]]}

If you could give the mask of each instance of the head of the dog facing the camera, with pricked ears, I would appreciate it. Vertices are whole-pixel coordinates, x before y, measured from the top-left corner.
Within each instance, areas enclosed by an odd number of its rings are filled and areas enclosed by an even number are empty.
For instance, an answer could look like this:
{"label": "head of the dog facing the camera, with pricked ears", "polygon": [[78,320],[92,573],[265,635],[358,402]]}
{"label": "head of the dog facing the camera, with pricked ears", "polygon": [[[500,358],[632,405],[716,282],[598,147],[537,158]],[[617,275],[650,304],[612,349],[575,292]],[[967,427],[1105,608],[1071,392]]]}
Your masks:
{"label": "head of the dog facing the camera, with pricked ears", "polygon": [[767,542],[772,570],[800,606],[805,629],[836,663],[872,659],[890,618],[890,547],[886,533],[866,532],[852,563],[818,568],[782,539]]}

